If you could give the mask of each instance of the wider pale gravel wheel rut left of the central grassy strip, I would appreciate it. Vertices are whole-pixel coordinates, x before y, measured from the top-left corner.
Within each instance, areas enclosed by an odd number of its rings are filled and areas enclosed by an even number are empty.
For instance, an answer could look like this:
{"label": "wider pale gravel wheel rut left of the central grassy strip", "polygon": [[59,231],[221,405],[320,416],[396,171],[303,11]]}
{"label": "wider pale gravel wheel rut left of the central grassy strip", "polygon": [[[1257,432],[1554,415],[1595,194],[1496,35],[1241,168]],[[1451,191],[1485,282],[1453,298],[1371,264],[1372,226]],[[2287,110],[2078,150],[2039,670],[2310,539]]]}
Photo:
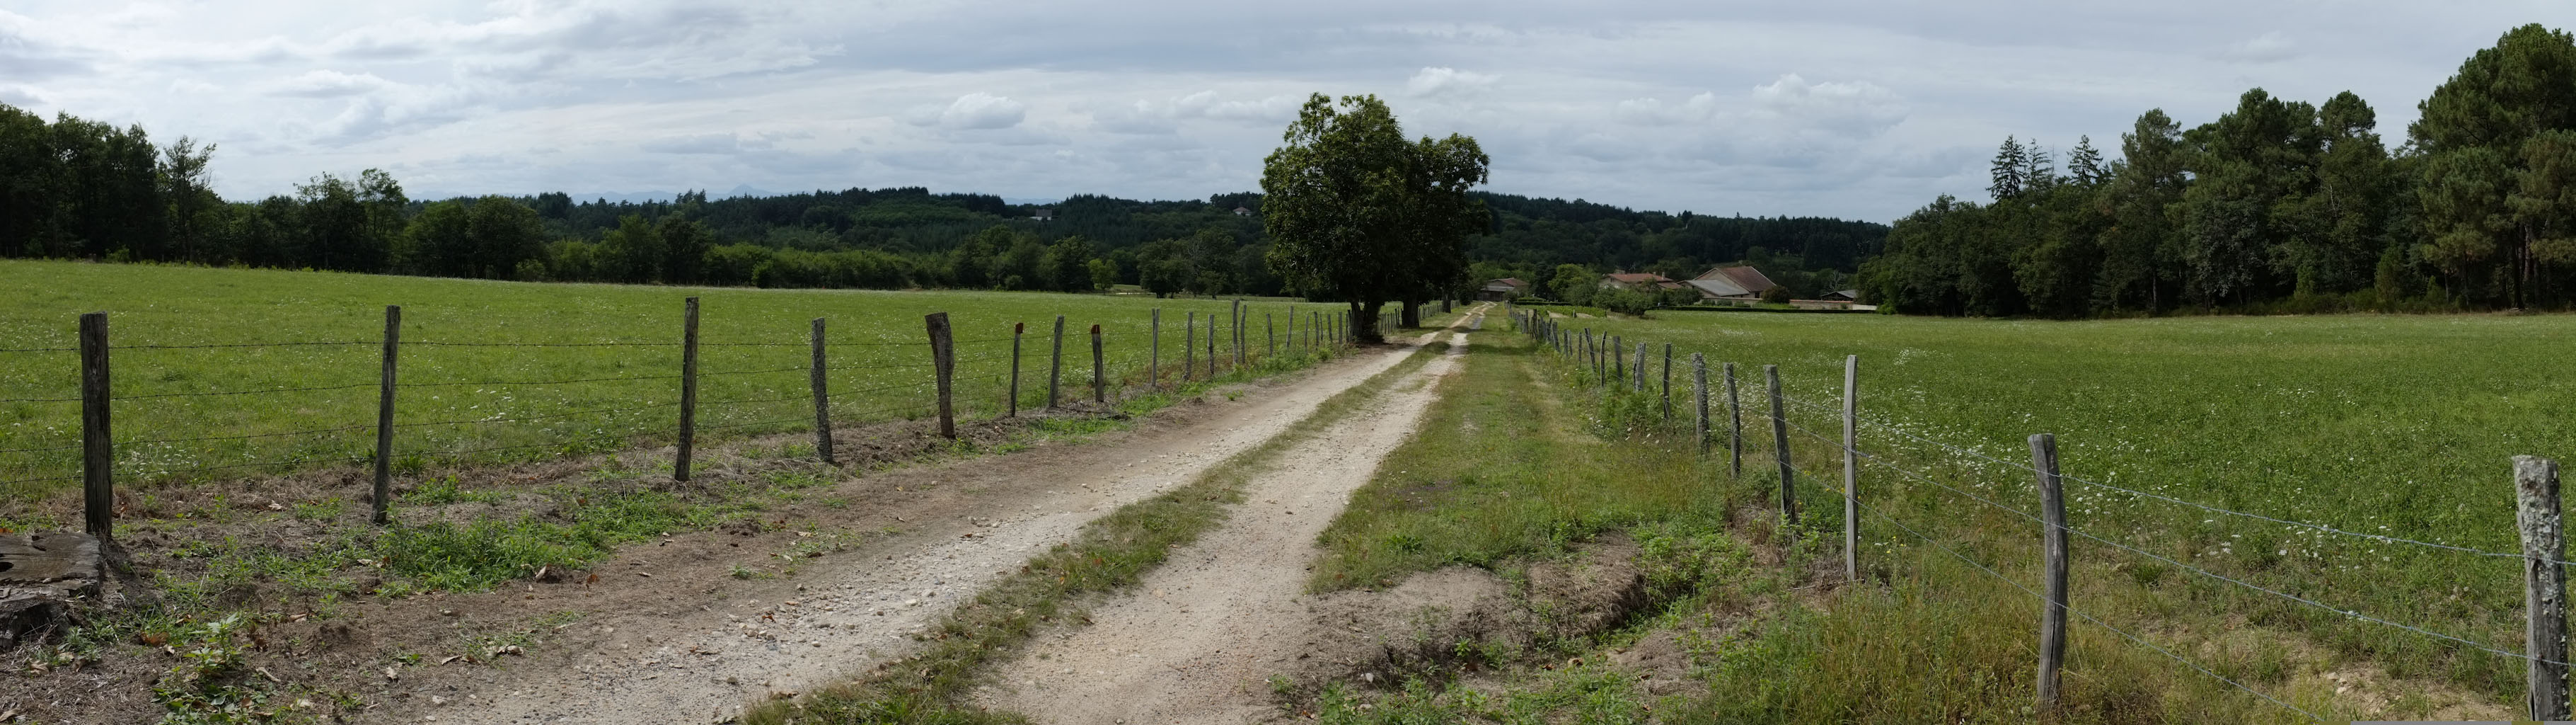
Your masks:
{"label": "wider pale gravel wheel rut left of the central grassy strip", "polygon": [[[422,671],[371,722],[721,722],[744,702],[837,681],[909,650],[920,632],[1002,570],[1069,542],[1090,519],[1190,482],[1211,464],[1257,446],[1342,392],[1399,364],[1412,346],[1365,351],[1303,379],[1265,384],[1239,402],[1211,402],[1188,426],[1146,426],[1123,439],[1036,449],[868,475],[876,493],[935,488],[943,495],[889,513],[902,534],[855,555],[809,560],[793,581],[724,581],[603,601],[556,640],[569,653],[466,673]],[[1401,436],[1388,431],[1386,436]],[[1363,470],[1365,472],[1365,470]],[[1257,516],[1267,516],[1257,513]],[[1301,511],[1301,516],[1306,516]],[[1321,506],[1314,521],[1329,519]],[[886,524],[894,524],[886,521]],[[708,560],[724,542],[641,547],[603,570],[644,573],[649,557]],[[685,550],[698,552],[688,555]],[[701,575],[708,565],[698,568]],[[721,573],[721,568],[714,568]],[[644,583],[629,578],[629,583]],[[523,611],[536,614],[536,611]]]}

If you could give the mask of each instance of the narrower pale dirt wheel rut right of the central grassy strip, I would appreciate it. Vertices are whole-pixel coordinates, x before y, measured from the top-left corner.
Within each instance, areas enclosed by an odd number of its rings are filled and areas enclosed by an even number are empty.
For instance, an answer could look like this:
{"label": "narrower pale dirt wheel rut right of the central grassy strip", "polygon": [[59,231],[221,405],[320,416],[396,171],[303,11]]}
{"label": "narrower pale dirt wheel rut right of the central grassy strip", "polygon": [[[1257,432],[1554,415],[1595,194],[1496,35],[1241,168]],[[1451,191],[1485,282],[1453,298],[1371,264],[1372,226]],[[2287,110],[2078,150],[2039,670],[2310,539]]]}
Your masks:
{"label": "narrower pale dirt wheel rut right of the central grassy strip", "polygon": [[[1476,315],[1458,325],[1473,328]],[[1041,640],[999,668],[984,702],[1041,722],[1247,722],[1273,715],[1265,676],[1311,650],[1306,568],[1350,493],[1422,421],[1450,353],[1291,449],[1244,490],[1244,506],[1149,573],[1139,593],[1095,606],[1092,627]]]}

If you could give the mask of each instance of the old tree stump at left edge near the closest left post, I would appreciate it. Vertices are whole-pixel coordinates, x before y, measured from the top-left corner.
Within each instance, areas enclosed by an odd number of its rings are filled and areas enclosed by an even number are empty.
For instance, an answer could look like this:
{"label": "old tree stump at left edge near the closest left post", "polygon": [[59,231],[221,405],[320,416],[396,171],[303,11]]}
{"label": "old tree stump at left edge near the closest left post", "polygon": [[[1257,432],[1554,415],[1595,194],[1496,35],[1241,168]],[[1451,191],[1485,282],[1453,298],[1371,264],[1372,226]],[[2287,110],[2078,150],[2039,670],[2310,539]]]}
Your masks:
{"label": "old tree stump at left edge near the closest left post", "polygon": [[95,601],[106,578],[98,537],[0,534],[0,650],[72,624],[72,604]]}

